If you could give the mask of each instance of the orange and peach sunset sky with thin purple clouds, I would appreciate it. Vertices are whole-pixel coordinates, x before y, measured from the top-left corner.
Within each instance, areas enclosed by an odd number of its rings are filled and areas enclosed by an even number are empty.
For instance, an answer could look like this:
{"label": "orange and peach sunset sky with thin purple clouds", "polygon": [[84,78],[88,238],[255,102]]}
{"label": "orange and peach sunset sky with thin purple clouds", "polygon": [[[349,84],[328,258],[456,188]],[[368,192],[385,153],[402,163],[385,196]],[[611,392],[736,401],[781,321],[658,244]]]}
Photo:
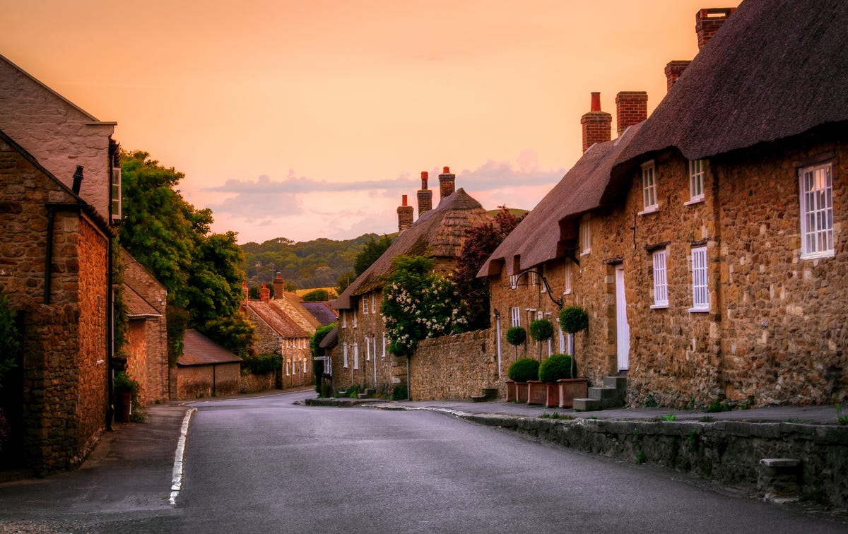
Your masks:
{"label": "orange and peach sunset sky with thin purple clouds", "polygon": [[[421,171],[532,209],[590,93],[666,93],[699,8],[738,0],[0,0],[0,54],[185,174],[238,242],[398,229]],[[416,209],[416,217],[417,217]]]}

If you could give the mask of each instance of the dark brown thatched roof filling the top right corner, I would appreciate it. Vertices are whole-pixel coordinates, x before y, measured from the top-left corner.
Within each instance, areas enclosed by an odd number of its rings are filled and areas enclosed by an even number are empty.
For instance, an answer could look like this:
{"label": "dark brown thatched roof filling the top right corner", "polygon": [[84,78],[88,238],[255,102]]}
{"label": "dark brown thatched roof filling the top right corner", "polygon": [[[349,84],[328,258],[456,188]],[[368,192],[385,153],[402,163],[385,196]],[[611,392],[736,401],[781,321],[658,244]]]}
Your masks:
{"label": "dark brown thatched roof filling the top right corner", "polygon": [[676,147],[688,159],[848,120],[848,2],[745,0],[622,152],[615,175]]}

